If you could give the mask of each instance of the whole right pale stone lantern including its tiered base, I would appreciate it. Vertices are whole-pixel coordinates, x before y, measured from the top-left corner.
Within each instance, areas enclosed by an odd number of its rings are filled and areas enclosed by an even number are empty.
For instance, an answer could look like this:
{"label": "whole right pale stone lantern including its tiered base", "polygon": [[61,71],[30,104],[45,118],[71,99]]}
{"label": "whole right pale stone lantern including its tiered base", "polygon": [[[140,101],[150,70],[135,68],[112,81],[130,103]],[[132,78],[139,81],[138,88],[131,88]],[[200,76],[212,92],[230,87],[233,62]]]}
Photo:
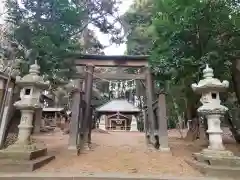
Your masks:
{"label": "whole right pale stone lantern including its tiered base", "polygon": [[186,160],[190,165],[207,175],[221,177],[238,177],[240,172],[240,157],[234,156],[225,149],[222,140],[221,120],[227,107],[221,105],[219,92],[225,91],[228,81],[214,78],[213,69],[206,65],[203,70],[204,79],[192,84],[192,89],[201,94],[202,106],[198,113],[206,116],[209,134],[209,146],[200,153],[194,153],[195,161]]}

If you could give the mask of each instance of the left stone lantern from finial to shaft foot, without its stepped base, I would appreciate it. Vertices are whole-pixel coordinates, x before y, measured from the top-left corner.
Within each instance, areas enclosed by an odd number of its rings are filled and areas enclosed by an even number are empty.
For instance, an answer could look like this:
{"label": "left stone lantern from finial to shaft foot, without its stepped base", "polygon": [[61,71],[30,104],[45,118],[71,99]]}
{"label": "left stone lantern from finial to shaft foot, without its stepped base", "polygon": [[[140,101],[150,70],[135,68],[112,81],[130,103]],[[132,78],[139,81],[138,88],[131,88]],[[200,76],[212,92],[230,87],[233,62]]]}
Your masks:
{"label": "left stone lantern from finial to shaft foot, without its stepped base", "polygon": [[21,111],[21,120],[18,126],[18,140],[13,146],[17,145],[29,150],[36,148],[30,142],[34,111],[42,107],[41,92],[49,87],[49,82],[45,82],[43,77],[39,76],[39,69],[35,61],[35,64],[30,66],[29,74],[16,80],[16,84],[21,88],[21,100],[17,101],[14,106]]}

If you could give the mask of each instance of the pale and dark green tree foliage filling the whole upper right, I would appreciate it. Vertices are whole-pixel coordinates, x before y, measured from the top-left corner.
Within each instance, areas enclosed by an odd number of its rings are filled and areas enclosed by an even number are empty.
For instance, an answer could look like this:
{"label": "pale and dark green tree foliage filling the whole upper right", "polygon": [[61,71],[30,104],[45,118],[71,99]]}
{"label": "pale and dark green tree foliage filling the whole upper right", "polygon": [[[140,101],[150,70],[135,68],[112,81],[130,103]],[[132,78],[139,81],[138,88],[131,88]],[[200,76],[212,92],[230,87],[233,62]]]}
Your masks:
{"label": "pale and dark green tree foliage filling the whole upper right", "polygon": [[151,55],[157,84],[168,92],[171,122],[199,105],[191,84],[202,78],[206,63],[217,78],[232,83],[232,62],[240,57],[239,4],[239,0],[135,0],[125,14],[127,53]]}

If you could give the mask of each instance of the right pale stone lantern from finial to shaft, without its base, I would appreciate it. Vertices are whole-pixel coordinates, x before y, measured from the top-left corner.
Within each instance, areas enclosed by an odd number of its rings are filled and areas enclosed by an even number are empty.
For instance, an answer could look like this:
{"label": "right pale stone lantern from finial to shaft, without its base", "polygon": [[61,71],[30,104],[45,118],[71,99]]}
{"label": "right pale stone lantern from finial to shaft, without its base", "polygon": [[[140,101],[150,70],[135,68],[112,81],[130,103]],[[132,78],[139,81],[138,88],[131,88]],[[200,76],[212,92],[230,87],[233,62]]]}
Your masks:
{"label": "right pale stone lantern from finial to shaft, without its base", "polygon": [[213,69],[206,65],[206,68],[203,70],[204,79],[200,80],[198,84],[192,84],[192,89],[202,95],[200,100],[202,106],[198,108],[198,112],[207,118],[207,133],[209,134],[208,149],[224,150],[220,118],[228,109],[221,105],[219,93],[228,88],[229,82],[220,82],[219,79],[213,76]]}

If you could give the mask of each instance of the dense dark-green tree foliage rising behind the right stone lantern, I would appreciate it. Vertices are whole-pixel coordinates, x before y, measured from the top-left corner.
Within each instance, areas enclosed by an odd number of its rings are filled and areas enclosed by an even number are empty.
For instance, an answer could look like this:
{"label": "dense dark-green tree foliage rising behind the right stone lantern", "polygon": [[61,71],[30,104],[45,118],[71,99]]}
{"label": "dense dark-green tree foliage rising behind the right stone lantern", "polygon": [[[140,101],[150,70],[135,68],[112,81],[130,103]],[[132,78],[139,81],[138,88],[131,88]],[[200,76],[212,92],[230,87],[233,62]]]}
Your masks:
{"label": "dense dark-green tree foliage rising behind the right stone lantern", "polygon": [[206,63],[216,77],[231,80],[231,60],[239,57],[239,5],[232,1],[155,0],[154,7],[156,39],[151,63],[160,83],[167,83],[179,114],[197,106],[191,84],[202,78]]}

